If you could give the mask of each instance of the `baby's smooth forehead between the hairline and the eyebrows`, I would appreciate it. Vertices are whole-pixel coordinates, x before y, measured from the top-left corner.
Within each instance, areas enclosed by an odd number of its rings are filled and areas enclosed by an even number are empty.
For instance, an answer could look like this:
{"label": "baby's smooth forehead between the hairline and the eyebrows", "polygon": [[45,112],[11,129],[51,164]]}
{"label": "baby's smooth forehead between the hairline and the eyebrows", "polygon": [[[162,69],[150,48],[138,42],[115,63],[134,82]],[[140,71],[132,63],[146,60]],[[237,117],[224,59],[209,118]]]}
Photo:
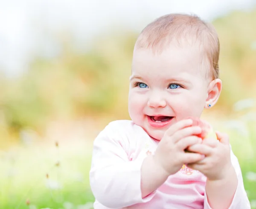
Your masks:
{"label": "baby's smooth forehead between the hairline and the eyebrows", "polygon": [[173,46],[158,54],[150,49],[137,49],[133,56],[132,75],[156,80],[206,78],[208,67],[205,64],[207,62],[203,62],[203,56],[196,47]]}

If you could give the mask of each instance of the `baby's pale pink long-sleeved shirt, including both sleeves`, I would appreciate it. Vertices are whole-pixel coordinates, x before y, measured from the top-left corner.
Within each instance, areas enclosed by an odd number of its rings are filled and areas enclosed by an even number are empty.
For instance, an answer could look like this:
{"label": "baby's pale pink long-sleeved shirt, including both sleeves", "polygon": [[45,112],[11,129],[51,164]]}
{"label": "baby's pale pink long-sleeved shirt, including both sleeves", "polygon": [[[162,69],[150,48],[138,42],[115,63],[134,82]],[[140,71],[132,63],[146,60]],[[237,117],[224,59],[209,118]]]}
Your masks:
{"label": "baby's pale pink long-sleeved shirt, including both sleeves", "polygon": [[[94,209],[210,209],[205,193],[206,177],[183,166],[145,198],[141,197],[140,168],[154,154],[157,142],[132,121],[113,121],[94,141],[90,186]],[[239,184],[230,209],[250,209],[241,169],[231,151]]]}

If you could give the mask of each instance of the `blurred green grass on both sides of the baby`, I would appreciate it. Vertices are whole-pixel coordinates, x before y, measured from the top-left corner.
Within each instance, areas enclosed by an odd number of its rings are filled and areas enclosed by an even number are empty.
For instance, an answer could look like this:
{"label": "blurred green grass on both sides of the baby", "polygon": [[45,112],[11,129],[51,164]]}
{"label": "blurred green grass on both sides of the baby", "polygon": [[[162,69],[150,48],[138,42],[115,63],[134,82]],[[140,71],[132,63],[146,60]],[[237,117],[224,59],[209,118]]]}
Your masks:
{"label": "blurred green grass on both sides of the baby", "polygon": [[[247,132],[235,128],[234,124],[230,126],[228,121],[214,127],[229,133],[233,152],[242,169],[245,189],[252,208],[256,208],[256,141],[253,140],[256,138],[256,122],[242,123]],[[94,201],[89,186],[91,148],[92,141],[65,142],[58,147],[51,142],[13,147],[0,153],[0,208],[91,208],[85,205]],[[50,187],[47,187],[47,181],[51,181]],[[61,187],[58,189],[58,186]]]}

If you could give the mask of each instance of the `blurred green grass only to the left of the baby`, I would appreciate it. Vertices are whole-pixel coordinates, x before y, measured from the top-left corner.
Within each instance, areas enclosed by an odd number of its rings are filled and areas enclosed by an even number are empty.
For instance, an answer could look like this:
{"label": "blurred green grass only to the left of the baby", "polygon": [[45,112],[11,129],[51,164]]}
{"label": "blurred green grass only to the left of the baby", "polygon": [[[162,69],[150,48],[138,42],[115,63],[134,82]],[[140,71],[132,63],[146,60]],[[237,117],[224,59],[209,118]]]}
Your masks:
{"label": "blurred green grass only to the left of the baby", "polygon": [[91,208],[85,206],[94,201],[89,186],[91,150],[87,147],[91,146],[85,142],[58,147],[35,144],[1,153],[0,208]]}

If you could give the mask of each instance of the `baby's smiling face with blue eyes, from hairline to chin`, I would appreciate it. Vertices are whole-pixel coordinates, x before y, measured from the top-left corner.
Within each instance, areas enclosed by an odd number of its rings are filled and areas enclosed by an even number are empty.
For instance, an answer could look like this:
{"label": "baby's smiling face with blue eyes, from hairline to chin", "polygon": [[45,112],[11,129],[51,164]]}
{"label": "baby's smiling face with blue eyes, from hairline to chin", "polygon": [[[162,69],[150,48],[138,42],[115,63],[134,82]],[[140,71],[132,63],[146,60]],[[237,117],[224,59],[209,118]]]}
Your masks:
{"label": "baby's smiling face with blue eyes, from hairline to chin", "polygon": [[160,140],[176,121],[200,117],[208,97],[208,69],[193,47],[170,47],[161,54],[134,51],[128,109],[132,121]]}

